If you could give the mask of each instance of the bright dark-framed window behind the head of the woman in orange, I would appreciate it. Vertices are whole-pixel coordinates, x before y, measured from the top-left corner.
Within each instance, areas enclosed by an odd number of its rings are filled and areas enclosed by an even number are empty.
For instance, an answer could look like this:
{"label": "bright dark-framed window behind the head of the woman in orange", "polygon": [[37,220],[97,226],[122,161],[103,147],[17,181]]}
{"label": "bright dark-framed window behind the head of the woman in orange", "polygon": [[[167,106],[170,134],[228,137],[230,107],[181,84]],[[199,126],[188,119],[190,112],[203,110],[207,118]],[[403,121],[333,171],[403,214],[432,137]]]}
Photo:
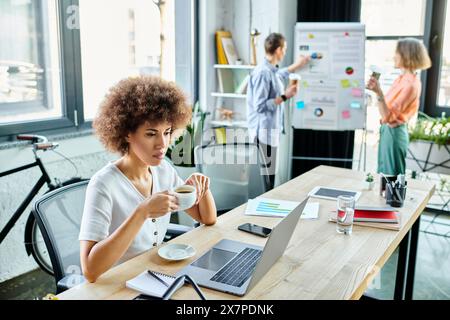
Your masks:
{"label": "bright dark-framed window behind the head of the woman in orange", "polygon": [[398,39],[414,37],[428,47],[433,63],[421,75],[420,109],[431,116],[450,113],[450,4],[448,0],[362,0],[367,27],[367,73],[382,72],[387,89],[398,76],[393,55]]}

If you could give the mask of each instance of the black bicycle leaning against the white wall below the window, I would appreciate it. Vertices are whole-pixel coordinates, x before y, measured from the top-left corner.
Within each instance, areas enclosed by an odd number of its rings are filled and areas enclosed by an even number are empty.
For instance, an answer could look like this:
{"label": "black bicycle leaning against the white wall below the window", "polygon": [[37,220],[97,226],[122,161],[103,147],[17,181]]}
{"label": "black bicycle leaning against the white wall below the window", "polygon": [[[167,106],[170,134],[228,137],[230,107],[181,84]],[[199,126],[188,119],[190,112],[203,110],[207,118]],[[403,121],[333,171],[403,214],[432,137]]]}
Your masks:
{"label": "black bicycle leaning against the white wall below the window", "polygon": [[[0,232],[0,244],[3,242],[3,240],[6,238],[8,233],[11,231],[11,229],[14,227],[16,222],[19,220],[19,218],[22,216],[22,214],[25,212],[28,205],[32,202],[34,197],[39,193],[41,188],[46,184],[48,187],[48,190],[46,193],[70,185],[72,183],[84,181],[87,179],[82,179],[80,177],[76,177],[78,174],[78,169],[76,165],[68,158],[66,158],[61,153],[55,151],[55,149],[59,146],[58,143],[49,142],[48,139],[44,136],[39,135],[18,135],[18,140],[22,141],[31,141],[32,145],[32,151],[34,153],[35,162],[20,166],[8,171],[0,172],[0,178],[12,175],[17,172],[21,172],[33,167],[39,167],[41,170],[41,177],[36,182],[36,184],[33,186],[31,191],[28,193],[28,195],[25,197],[25,199],[22,201],[20,206],[17,208],[17,210],[14,212],[12,217],[9,219],[9,221],[6,223],[3,230]],[[41,158],[38,155],[39,151],[53,151],[59,156],[63,157],[65,160],[69,161],[76,170],[75,177],[66,180],[66,181],[59,181],[58,179],[54,179],[55,183],[52,183],[52,180],[45,169],[44,163],[42,162]],[[36,222],[36,219],[32,212],[30,212],[28,216],[28,220],[26,222],[25,226],[25,233],[24,233],[24,244],[25,244],[25,250],[27,252],[27,255],[30,256],[30,254],[33,256],[36,263],[39,265],[39,267],[44,270],[46,273],[53,275],[53,269],[50,262],[50,258],[47,252],[47,248],[45,246],[44,240],[42,238],[41,231],[39,229],[39,226]]]}

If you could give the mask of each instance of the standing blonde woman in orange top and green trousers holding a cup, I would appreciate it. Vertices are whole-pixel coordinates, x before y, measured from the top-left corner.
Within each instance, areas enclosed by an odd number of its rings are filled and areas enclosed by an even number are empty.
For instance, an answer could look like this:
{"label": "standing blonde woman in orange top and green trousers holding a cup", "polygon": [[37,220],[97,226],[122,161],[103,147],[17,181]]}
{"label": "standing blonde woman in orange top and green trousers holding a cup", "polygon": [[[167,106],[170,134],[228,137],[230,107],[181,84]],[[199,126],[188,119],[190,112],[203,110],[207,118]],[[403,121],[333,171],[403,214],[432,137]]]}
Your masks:
{"label": "standing blonde woman in orange top and green trousers holding a cup", "polygon": [[413,38],[398,41],[394,62],[395,68],[401,69],[402,74],[386,95],[375,77],[371,77],[367,84],[367,88],[377,94],[381,115],[378,172],[389,175],[405,174],[409,144],[408,121],[419,110],[422,91],[416,71],[431,67],[425,46]]}

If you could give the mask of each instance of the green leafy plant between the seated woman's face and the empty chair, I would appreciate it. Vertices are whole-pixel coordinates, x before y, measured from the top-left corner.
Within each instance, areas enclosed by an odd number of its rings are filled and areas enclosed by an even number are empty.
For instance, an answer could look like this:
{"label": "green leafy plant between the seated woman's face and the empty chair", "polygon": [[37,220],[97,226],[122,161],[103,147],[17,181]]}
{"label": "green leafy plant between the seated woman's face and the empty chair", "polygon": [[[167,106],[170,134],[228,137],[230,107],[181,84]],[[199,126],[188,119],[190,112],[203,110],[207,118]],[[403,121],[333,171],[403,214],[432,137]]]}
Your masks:
{"label": "green leafy plant between the seated woman's face and the empty chair", "polygon": [[191,123],[181,136],[167,150],[169,157],[176,167],[181,178],[187,179],[195,172],[194,149],[202,143],[205,119],[208,115],[200,109],[199,103],[195,103],[192,110]]}

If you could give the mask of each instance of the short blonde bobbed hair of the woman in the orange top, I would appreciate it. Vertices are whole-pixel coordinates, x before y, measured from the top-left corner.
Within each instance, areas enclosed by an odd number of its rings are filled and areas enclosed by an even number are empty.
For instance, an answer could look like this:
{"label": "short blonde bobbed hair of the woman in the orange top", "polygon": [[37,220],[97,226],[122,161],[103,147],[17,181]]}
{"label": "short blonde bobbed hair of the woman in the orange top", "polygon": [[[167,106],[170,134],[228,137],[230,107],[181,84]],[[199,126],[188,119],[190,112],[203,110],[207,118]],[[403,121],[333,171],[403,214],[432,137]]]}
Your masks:
{"label": "short blonde bobbed hair of the woman in the orange top", "polygon": [[423,43],[414,38],[397,42],[396,52],[400,55],[401,66],[408,70],[426,70],[431,67],[431,59]]}

